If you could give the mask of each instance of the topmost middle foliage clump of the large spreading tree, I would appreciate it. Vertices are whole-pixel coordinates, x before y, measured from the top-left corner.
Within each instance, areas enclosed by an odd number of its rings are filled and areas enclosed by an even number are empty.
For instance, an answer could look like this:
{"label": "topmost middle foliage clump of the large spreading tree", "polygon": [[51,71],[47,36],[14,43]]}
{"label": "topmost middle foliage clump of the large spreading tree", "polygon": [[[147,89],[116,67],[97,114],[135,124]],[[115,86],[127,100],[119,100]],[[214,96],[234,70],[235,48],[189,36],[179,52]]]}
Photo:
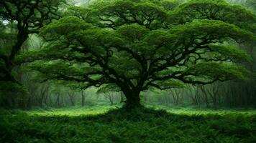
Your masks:
{"label": "topmost middle foliage clump of the large spreading tree", "polygon": [[102,4],[99,1],[93,5],[96,9],[93,10],[93,14],[99,15],[99,26],[116,28],[124,24],[140,24],[149,29],[158,29],[164,19],[167,19],[168,11],[165,9],[170,10],[163,7],[163,2],[119,0]]}

